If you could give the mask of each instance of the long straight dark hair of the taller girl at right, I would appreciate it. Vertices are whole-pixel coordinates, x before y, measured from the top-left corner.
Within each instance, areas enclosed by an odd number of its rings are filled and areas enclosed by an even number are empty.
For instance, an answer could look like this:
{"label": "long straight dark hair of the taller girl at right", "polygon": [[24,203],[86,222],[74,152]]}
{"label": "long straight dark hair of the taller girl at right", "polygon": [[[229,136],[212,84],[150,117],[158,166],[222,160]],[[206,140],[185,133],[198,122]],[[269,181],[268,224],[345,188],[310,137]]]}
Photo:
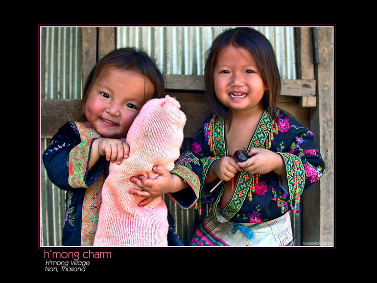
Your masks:
{"label": "long straight dark hair of the taller girl at right", "polygon": [[277,120],[277,101],[281,91],[281,80],[275,51],[263,34],[250,27],[236,27],[223,31],[215,38],[212,47],[207,51],[208,58],[204,69],[204,84],[212,110],[216,115],[227,117],[229,114],[228,107],[217,99],[213,84],[213,70],[218,53],[229,45],[243,47],[253,55],[264,86],[267,89],[262,98],[263,106],[270,116]]}

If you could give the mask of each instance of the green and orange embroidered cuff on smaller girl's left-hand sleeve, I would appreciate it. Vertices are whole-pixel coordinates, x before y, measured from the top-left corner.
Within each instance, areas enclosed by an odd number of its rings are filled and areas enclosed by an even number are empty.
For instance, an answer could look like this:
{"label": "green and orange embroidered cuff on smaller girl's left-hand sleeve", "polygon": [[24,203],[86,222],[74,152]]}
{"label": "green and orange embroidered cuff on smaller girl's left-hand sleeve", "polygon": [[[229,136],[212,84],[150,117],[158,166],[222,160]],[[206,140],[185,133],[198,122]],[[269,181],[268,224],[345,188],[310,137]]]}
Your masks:
{"label": "green and orange embroidered cuff on smaller girl's left-hand sleeve", "polygon": [[81,142],[72,148],[69,155],[68,183],[72,188],[87,188],[85,184],[85,173],[87,170],[89,153],[93,139]]}

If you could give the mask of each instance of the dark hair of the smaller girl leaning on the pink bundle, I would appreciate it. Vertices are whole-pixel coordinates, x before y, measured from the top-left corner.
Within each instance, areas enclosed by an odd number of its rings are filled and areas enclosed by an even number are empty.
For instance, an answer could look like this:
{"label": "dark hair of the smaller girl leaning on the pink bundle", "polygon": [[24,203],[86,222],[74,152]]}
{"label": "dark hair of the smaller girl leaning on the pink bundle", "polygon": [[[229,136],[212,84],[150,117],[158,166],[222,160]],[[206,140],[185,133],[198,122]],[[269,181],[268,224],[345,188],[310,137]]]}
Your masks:
{"label": "dark hair of the smaller girl leaning on the pink bundle", "polygon": [[[152,98],[162,98],[165,96],[164,77],[161,71],[157,68],[156,61],[152,60],[149,55],[141,49],[125,47],[111,51],[95,64],[83,89],[83,97],[80,105],[81,109],[84,109],[89,90],[99,72],[103,67],[109,65],[128,71],[139,72],[152,82],[154,86],[154,94]],[[80,120],[86,120],[85,113]]]}

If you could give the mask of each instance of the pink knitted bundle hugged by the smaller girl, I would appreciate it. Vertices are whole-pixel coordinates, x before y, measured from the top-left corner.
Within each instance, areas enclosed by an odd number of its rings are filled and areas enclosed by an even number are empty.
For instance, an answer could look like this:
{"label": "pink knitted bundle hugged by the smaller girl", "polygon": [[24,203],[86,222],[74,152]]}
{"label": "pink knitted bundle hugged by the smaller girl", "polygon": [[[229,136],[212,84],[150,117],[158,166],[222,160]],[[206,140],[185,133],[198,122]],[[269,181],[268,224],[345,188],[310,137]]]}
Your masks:
{"label": "pink knitted bundle hugged by the smaller girl", "polygon": [[120,165],[110,164],[109,176],[102,188],[94,246],[166,246],[167,208],[162,197],[145,206],[142,197],[130,194],[140,189],[131,177],[144,175],[155,179],[153,166],[163,165],[169,171],[180,155],[185,114],[174,98],[151,99],[132,123],[127,142],[130,153]]}

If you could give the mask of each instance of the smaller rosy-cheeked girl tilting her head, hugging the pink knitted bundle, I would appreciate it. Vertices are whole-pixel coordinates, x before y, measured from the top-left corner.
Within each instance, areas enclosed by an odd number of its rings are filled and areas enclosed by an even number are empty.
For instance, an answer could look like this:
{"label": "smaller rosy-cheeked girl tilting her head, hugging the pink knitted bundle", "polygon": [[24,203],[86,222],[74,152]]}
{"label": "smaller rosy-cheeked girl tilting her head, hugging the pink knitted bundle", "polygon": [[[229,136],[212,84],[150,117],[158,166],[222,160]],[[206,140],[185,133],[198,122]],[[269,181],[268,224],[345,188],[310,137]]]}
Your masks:
{"label": "smaller rosy-cheeked girl tilting her head, hugging the pink knitted bundle", "polygon": [[[144,51],[120,48],[97,62],[83,89],[82,118],[63,125],[43,154],[49,179],[67,190],[63,245],[93,245],[109,162],[120,164],[128,158],[126,137],[131,124],[148,100],[162,97],[163,76]],[[194,192],[189,194],[197,195],[198,186],[188,181],[199,180],[202,167],[195,161],[191,169],[183,175],[159,168],[160,176],[154,180],[159,188],[152,196],[148,193],[141,205],[190,184]],[[182,244],[172,229],[167,236],[170,245]]]}

